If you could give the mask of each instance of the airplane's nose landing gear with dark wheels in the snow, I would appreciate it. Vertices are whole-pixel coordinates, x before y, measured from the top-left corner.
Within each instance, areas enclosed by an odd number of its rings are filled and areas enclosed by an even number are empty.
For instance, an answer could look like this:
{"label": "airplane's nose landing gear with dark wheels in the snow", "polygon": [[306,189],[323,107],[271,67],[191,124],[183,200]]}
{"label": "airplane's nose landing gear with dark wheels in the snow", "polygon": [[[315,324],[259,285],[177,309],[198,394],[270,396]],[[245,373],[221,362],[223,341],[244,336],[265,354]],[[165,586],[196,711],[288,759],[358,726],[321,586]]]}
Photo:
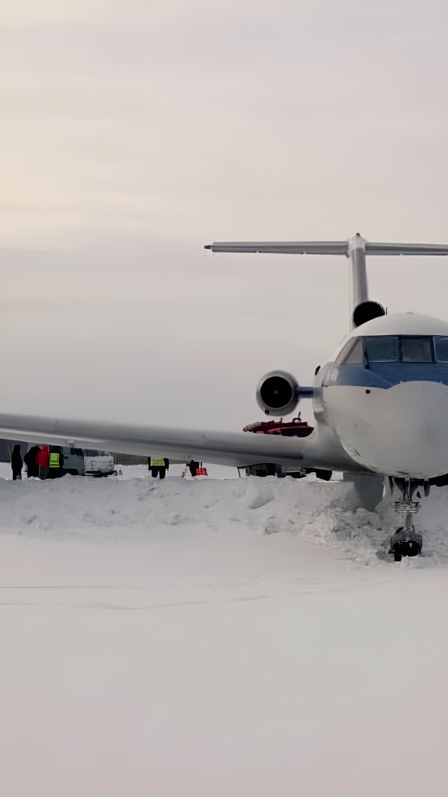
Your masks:
{"label": "airplane's nose landing gear with dark wheels in the snow", "polygon": [[[389,479],[391,485],[391,493],[394,492],[394,486],[398,487],[402,498],[395,501],[395,512],[398,512],[404,520],[403,526],[397,528],[395,534],[391,536],[391,548],[389,553],[393,554],[395,562],[401,562],[403,556],[420,556],[422,553],[422,535],[415,531],[412,519],[414,515],[419,512],[419,501],[412,501],[414,493],[417,492],[419,487],[422,487],[422,482],[416,479]],[[425,495],[429,493],[426,489],[426,482],[423,485]],[[418,498],[421,497],[417,492]]]}

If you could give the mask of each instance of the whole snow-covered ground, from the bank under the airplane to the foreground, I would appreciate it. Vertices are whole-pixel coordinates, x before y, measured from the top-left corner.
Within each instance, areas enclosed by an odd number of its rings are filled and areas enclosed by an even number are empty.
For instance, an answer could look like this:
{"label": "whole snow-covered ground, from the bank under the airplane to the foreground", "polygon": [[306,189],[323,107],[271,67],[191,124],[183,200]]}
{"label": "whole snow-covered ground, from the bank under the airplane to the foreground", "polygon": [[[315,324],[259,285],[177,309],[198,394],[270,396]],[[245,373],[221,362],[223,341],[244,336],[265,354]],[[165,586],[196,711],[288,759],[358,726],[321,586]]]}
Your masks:
{"label": "whole snow-covered ground, from the bank under the airplane to the foreground", "polygon": [[446,794],[448,488],[121,471],[0,465],[2,795]]}

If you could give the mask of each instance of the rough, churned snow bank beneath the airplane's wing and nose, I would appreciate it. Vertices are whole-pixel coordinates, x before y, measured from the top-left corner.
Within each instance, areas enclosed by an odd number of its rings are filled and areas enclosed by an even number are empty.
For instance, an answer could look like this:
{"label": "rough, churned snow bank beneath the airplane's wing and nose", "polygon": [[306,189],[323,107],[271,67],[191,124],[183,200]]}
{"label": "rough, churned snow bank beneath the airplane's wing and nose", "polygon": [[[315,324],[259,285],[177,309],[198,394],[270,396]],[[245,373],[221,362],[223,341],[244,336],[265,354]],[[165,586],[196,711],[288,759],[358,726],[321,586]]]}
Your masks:
{"label": "rough, churned snow bank beneath the airplane's wing and nose", "polygon": [[[0,500],[3,531],[26,536],[59,539],[82,536],[88,540],[149,540],[163,528],[202,529],[212,536],[226,529],[226,537],[247,532],[283,532],[310,545],[324,545],[347,561],[375,565],[387,556],[391,532],[403,521],[395,513],[393,499],[385,497],[368,512],[359,507],[352,482],[249,477],[238,479],[190,479],[173,475],[152,479],[142,466],[120,467],[120,475],[108,479],[66,476],[61,480],[38,479],[11,483],[10,466],[1,465]],[[171,474],[182,466],[171,466]],[[213,472],[213,466],[209,470]],[[394,496],[395,500],[398,498]],[[415,516],[424,532],[422,557],[403,560],[402,567],[429,567],[448,562],[446,515],[448,488],[433,487],[422,497]],[[241,524],[234,528],[234,524]]]}

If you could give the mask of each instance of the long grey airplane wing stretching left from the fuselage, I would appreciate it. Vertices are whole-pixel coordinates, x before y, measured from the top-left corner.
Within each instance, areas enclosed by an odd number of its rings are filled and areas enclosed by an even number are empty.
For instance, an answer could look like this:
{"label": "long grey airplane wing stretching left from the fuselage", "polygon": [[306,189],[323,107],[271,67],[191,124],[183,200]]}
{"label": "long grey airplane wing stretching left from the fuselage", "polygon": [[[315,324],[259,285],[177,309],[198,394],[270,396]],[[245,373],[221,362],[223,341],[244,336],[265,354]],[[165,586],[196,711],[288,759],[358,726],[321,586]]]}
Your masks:
{"label": "long grey airplane wing stretching left from the fuselage", "polygon": [[317,430],[308,438],[285,438],[251,432],[124,426],[116,423],[37,418],[0,414],[0,438],[171,457],[244,467],[261,462],[299,468],[355,470],[360,466],[342,446],[321,440]]}

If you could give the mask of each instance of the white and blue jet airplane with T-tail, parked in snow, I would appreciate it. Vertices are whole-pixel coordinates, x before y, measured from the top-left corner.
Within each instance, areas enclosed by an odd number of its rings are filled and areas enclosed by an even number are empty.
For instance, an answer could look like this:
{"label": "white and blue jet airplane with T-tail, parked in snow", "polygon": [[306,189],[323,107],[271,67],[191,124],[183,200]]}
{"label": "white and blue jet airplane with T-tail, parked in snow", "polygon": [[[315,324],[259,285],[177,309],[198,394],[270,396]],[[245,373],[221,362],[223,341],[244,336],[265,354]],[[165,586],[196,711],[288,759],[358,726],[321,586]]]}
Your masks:
{"label": "white and blue jet airplane with T-tail, parked in snow", "polygon": [[448,245],[375,243],[357,233],[347,241],[218,242],[205,249],[348,258],[350,331],[316,368],[312,387],[301,387],[286,371],[270,371],[257,385],[258,406],[274,418],[312,398],[316,426],[306,436],[298,419],[297,429],[294,422],[260,422],[245,427],[248,434],[0,414],[0,437],[238,469],[275,463],[324,477],[334,470],[361,481],[381,477],[384,491],[396,488],[401,496],[397,509],[404,519],[390,553],[396,561],[418,555],[415,493],[448,485],[448,324],[413,312],[387,314],[370,300],[366,255],[440,256],[448,255]]}

